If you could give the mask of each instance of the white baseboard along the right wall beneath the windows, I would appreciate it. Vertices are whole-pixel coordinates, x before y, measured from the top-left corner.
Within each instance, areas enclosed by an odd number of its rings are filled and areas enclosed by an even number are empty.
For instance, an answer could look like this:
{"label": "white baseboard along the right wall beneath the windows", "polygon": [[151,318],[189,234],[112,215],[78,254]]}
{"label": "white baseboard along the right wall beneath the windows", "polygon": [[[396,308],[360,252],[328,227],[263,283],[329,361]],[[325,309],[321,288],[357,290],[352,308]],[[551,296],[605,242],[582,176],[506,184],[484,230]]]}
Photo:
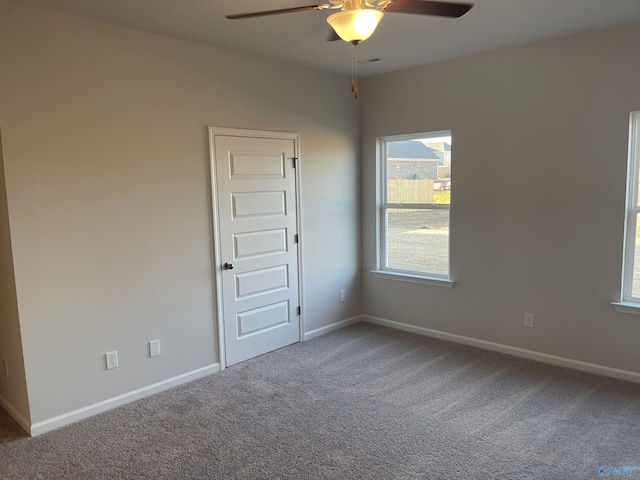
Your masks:
{"label": "white baseboard along the right wall beneath the windows", "polygon": [[393,320],[386,320],[384,318],[372,317],[370,315],[363,315],[362,320],[368,323],[374,323],[376,325],[403,330],[405,332],[417,333],[418,335],[425,335],[427,337],[439,338],[441,340],[447,340],[450,342],[462,343],[464,345],[470,345],[472,347],[491,350],[494,352],[506,353],[508,355],[513,355],[516,357],[536,360],[538,362],[549,363],[551,365],[557,365],[560,367],[572,368],[574,370],[581,370],[583,372],[603,375],[605,377],[612,377],[619,380],[627,380],[629,382],[640,383],[640,373],[632,372],[630,370],[605,367],[604,365],[597,365],[595,363],[587,363],[580,360],[574,360],[572,358],[558,357],[556,355],[549,355],[547,353],[540,353],[534,350],[512,347],[509,345],[503,345],[501,343],[487,342],[486,340],[478,340],[477,338],[464,337],[462,335],[441,332],[439,330],[431,330],[430,328],[417,327],[415,325],[395,322]]}

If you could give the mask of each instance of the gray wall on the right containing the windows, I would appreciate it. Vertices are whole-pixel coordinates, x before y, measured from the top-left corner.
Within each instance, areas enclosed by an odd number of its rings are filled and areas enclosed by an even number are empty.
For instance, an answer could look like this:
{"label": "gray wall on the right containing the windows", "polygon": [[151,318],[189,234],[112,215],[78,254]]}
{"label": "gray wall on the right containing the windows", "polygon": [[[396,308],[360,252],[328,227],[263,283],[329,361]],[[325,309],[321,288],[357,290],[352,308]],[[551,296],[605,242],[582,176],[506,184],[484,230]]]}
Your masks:
{"label": "gray wall on the right containing the windows", "polygon": [[[609,305],[639,44],[635,24],[364,79],[365,313],[640,372],[640,317]],[[374,278],[376,138],[448,129],[456,284]]]}

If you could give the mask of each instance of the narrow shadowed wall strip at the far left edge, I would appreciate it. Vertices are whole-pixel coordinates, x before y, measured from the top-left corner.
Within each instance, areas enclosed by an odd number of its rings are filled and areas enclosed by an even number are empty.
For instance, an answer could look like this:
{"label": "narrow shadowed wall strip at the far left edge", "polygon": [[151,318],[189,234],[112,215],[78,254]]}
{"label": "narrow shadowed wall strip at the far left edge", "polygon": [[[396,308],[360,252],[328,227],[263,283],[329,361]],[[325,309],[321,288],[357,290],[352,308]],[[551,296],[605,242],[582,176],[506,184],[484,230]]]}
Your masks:
{"label": "narrow shadowed wall strip at the far left edge", "polygon": [[7,192],[0,132],[0,405],[11,410],[23,427],[29,425],[29,401],[13,275]]}

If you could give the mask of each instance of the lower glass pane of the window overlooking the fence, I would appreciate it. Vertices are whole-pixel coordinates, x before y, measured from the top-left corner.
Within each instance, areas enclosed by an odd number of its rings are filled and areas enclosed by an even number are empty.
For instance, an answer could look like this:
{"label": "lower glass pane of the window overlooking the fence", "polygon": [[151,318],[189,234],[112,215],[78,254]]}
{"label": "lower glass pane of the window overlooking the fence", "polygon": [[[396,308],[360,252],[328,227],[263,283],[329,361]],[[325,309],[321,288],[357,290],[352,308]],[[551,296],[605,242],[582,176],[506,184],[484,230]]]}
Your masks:
{"label": "lower glass pane of the window overlooking the fence", "polygon": [[387,267],[449,274],[449,210],[387,210]]}

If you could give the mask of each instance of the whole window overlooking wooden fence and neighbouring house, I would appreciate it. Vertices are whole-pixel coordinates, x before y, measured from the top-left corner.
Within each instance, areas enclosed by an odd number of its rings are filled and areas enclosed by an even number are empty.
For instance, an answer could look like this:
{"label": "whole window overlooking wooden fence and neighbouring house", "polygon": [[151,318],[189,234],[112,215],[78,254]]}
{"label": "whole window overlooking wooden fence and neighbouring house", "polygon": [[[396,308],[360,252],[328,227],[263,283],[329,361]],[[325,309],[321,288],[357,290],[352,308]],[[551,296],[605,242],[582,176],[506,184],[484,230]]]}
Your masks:
{"label": "whole window overlooking wooden fence and neighbouring house", "polygon": [[379,139],[379,267],[374,273],[451,286],[451,132]]}

